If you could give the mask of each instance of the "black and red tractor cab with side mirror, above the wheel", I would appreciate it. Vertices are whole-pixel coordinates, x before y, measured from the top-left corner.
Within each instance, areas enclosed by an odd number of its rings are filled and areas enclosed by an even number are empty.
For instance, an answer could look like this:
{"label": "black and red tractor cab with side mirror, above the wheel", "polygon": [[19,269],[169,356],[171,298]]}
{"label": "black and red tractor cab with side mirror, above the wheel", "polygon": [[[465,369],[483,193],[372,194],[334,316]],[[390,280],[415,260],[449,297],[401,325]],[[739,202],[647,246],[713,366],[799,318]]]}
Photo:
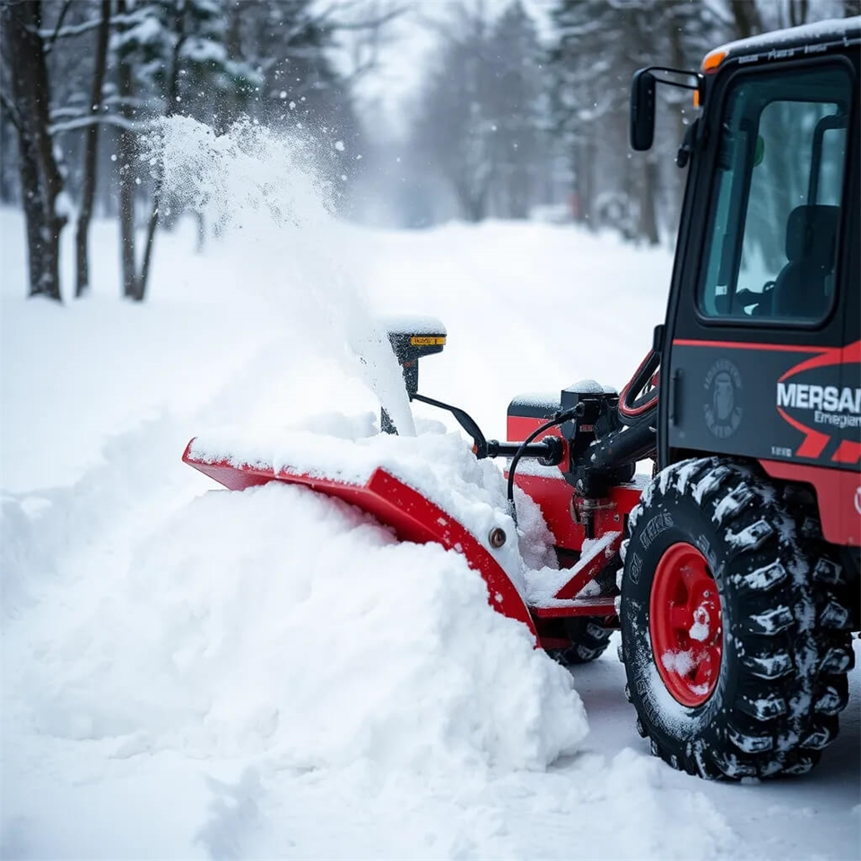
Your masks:
{"label": "black and red tractor cab with side mirror, above the wheel", "polygon": [[[822,22],[731,42],[689,76],[701,113],[683,147],[657,440],[662,466],[715,452],[811,484],[825,535],[856,546],[859,45],[861,19]],[[656,74],[635,76],[635,148],[650,144]]]}

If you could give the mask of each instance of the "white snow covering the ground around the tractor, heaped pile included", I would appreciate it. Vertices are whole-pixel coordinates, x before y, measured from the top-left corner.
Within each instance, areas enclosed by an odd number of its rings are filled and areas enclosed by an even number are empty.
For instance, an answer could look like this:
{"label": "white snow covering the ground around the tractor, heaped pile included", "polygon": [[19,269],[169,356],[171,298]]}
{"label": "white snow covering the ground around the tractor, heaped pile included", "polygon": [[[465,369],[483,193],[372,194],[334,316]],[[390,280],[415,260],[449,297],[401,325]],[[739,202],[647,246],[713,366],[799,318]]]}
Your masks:
{"label": "white snow covering the ground around the tractor, heaped pile included", "polygon": [[[257,213],[202,255],[189,225],[160,237],[143,306],[106,223],[90,298],[25,300],[0,212],[0,856],[858,857],[857,671],[811,775],[706,783],[648,754],[614,646],[572,679],[457,554],[180,463],[223,425],[367,436],[371,386],[404,408],[380,314],[444,321],[420,390],[497,437],[517,393],[621,386],[663,316],[665,251],[360,230],[296,194],[287,228]],[[448,457],[446,416],[414,412]]]}

